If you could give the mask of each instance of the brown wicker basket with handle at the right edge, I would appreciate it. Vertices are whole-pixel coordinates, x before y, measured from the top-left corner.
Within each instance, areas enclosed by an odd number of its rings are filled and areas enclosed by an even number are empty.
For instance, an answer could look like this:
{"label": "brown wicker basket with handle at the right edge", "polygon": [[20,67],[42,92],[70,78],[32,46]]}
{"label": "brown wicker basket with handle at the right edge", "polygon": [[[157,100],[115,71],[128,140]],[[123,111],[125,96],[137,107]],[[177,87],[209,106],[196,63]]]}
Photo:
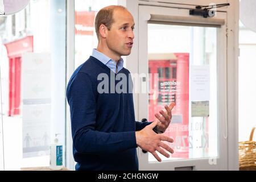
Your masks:
{"label": "brown wicker basket with handle at the right edge", "polygon": [[251,129],[250,140],[239,142],[239,169],[241,171],[256,170],[256,142],[253,141],[255,127]]}

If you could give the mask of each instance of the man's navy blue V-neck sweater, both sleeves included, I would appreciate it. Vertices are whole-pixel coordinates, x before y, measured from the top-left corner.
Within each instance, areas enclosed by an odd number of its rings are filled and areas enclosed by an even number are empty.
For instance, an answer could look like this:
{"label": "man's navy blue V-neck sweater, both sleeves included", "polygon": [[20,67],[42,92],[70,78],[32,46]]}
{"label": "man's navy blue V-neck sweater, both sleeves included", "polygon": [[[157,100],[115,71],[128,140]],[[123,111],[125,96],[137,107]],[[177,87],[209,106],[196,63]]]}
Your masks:
{"label": "man's navy blue V-neck sweater, both sleeves included", "polygon": [[150,122],[135,121],[132,93],[110,93],[110,88],[109,93],[98,93],[100,73],[109,76],[109,85],[110,74],[116,77],[123,73],[127,77],[127,92],[132,89],[127,69],[122,68],[116,75],[92,56],[73,73],[67,100],[76,170],[138,170],[135,131]]}

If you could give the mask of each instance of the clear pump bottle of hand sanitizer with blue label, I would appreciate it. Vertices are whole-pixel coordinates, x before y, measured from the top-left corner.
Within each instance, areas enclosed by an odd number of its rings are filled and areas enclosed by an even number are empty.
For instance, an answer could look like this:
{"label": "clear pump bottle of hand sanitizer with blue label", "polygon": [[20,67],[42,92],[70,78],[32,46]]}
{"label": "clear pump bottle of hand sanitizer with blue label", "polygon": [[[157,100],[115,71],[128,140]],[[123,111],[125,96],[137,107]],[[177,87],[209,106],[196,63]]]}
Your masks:
{"label": "clear pump bottle of hand sanitizer with blue label", "polygon": [[63,168],[63,145],[59,144],[59,139],[57,138],[59,133],[55,134],[54,143],[50,145],[50,169],[60,170]]}

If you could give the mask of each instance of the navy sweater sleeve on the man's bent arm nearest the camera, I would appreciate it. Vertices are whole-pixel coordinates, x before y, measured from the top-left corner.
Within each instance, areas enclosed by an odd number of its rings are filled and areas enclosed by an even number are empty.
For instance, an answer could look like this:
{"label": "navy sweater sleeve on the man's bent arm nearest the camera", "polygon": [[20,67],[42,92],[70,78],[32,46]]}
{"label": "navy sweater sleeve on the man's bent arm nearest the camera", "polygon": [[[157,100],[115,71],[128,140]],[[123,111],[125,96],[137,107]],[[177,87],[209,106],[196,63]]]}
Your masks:
{"label": "navy sweater sleeve on the man's bent arm nearest the camera", "polygon": [[95,130],[96,89],[86,73],[77,73],[67,88],[73,146],[85,154],[105,154],[137,147],[135,131],[104,133]]}

